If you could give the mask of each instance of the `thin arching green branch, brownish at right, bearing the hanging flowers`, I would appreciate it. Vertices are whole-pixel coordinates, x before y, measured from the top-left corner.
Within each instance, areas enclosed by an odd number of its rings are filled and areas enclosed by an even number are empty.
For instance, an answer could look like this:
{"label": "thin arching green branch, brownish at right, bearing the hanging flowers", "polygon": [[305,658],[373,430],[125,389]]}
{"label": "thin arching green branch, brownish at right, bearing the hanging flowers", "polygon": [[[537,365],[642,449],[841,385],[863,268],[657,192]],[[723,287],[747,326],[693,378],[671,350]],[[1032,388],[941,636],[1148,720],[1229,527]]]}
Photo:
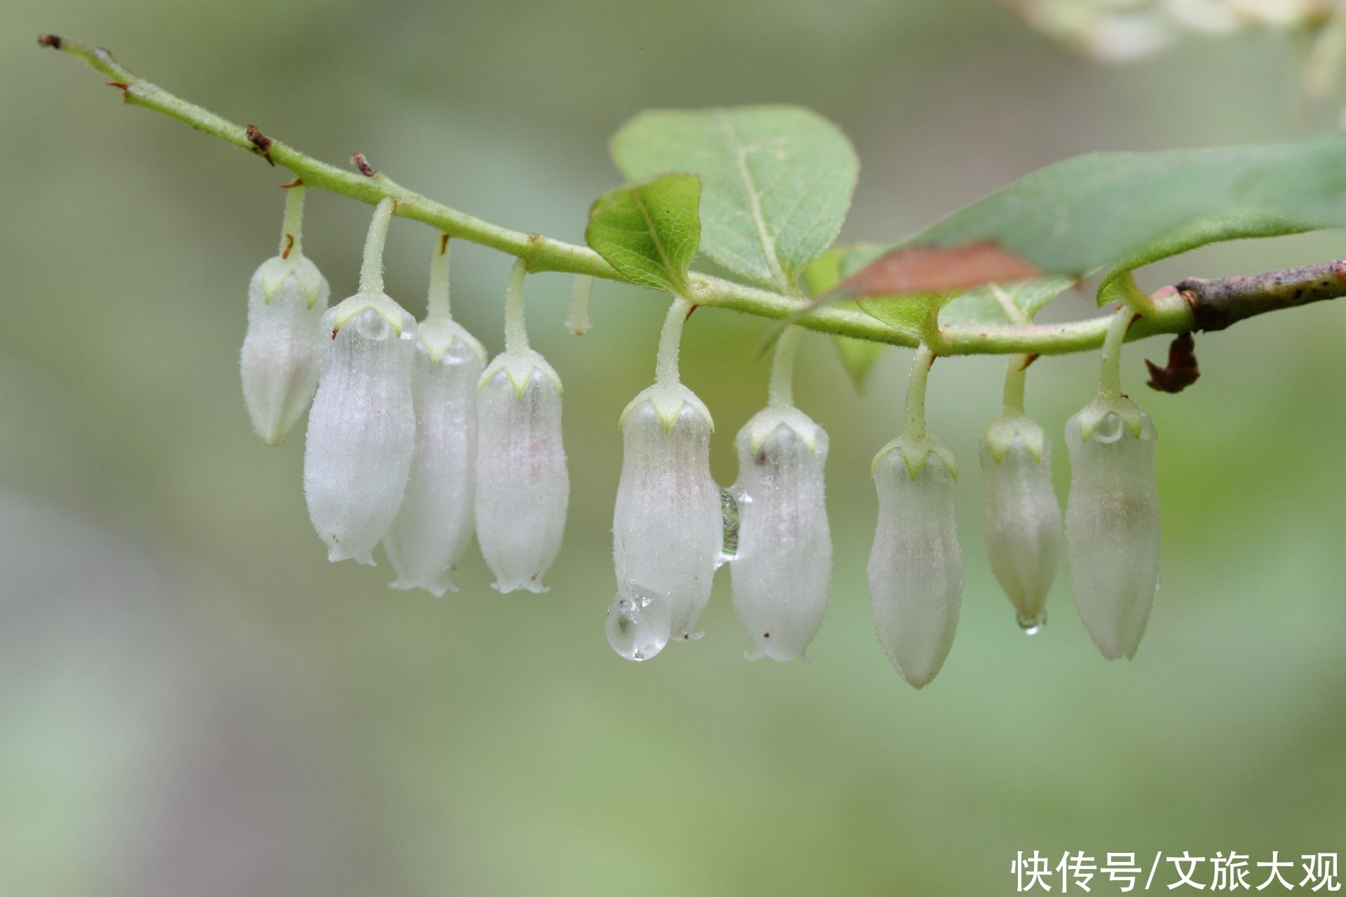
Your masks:
{"label": "thin arching green branch, brownish at right, bearing the hanging flowers", "polygon": [[[402,187],[386,175],[378,173],[370,168],[363,156],[353,157],[358,171],[346,171],[307,156],[293,147],[261,133],[252,125],[237,125],[140,78],[113,59],[106,50],[93,48],[55,35],[44,35],[38,42],[86,62],[106,77],[109,85],[121,90],[127,104],[153,109],[260,156],[273,165],[288,168],[306,187],[326,190],[371,206],[378,204],[385,198],[392,198],[396,202],[396,215],[424,222],[454,238],[516,256],[526,262],[530,272],[565,272],[629,282],[598,253],[586,246],[551,239],[541,234],[509,230],[450,208]],[[1264,297],[1256,295],[1240,297],[1229,290],[1218,290],[1213,286],[1215,281],[1202,281],[1201,284],[1205,288],[1203,292],[1219,296],[1221,320],[1225,321],[1273,311],[1287,304],[1263,301]],[[1346,288],[1341,292],[1346,292]],[[1319,295],[1315,299],[1331,299],[1335,295],[1341,293]],[[746,286],[696,272],[688,276],[686,297],[697,305],[728,308],[759,317],[790,321],[824,334],[853,336],[895,346],[915,347],[919,344],[919,338],[915,334],[884,324],[861,311],[824,307],[798,317],[800,312],[809,305],[798,296]],[[1127,334],[1128,340],[1156,334],[1180,334],[1199,329],[1203,324],[1202,293],[1197,290],[1184,293],[1172,289],[1159,290],[1151,301],[1152,309],[1147,309],[1147,313],[1132,325]],[[1232,308],[1238,301],[1244,303],[1242,308]],[[1097,350],[1104,343],[1110,319],[1112,315],[1104,315],[1069,324],[941,327],[938,351],[941,355],[1059,355]]]}

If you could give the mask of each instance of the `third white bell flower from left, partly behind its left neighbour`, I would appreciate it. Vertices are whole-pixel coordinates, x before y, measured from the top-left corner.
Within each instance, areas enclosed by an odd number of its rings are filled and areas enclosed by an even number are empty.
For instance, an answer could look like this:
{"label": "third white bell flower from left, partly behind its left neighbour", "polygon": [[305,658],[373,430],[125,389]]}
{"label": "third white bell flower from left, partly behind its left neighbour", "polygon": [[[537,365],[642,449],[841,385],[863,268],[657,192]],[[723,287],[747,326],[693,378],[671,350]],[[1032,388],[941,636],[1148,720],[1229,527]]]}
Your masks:
{"label": "third white bell flower from left, partly behind its left neighbour", "polygon": [[472,538],[476,479],[476,382],[486,350],[448,308],[448,235],[431,257],[429,311],[417,327],[412,362],[416,451],[384,550],[394,589],[458,590],[454,565]]}

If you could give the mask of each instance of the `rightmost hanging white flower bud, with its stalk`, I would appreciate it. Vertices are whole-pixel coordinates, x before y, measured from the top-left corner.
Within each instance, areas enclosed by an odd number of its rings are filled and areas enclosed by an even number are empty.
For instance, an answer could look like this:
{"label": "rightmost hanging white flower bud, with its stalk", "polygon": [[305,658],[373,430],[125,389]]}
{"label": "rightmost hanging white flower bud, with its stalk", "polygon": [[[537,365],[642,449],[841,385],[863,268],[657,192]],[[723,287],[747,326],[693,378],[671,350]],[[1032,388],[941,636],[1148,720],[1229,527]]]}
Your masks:
{"label": "rightmost hanging white flower bud, with its stalk", "polygon": [[1155,425],[1121,395],[1120,352],[1132,313],[1113,319],[1098,397],[1066,421],[1066,549],[1075,609],[1109,660],[1133,658],[1159,589]]}

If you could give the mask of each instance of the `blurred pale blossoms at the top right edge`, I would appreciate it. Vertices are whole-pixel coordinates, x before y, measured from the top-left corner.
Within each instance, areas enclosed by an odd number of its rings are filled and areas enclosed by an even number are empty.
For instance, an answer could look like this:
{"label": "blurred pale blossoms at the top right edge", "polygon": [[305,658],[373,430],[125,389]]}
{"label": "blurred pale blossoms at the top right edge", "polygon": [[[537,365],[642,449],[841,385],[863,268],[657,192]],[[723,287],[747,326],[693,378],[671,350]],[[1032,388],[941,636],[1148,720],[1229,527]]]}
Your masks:
{"label": "blurred pale blossoms at the top right edge", "polygon": [[1183,32],[1299,27],[1324,20],[1337,0],[1011,0],[1054,40],[1101,62],[1131,62]]}

